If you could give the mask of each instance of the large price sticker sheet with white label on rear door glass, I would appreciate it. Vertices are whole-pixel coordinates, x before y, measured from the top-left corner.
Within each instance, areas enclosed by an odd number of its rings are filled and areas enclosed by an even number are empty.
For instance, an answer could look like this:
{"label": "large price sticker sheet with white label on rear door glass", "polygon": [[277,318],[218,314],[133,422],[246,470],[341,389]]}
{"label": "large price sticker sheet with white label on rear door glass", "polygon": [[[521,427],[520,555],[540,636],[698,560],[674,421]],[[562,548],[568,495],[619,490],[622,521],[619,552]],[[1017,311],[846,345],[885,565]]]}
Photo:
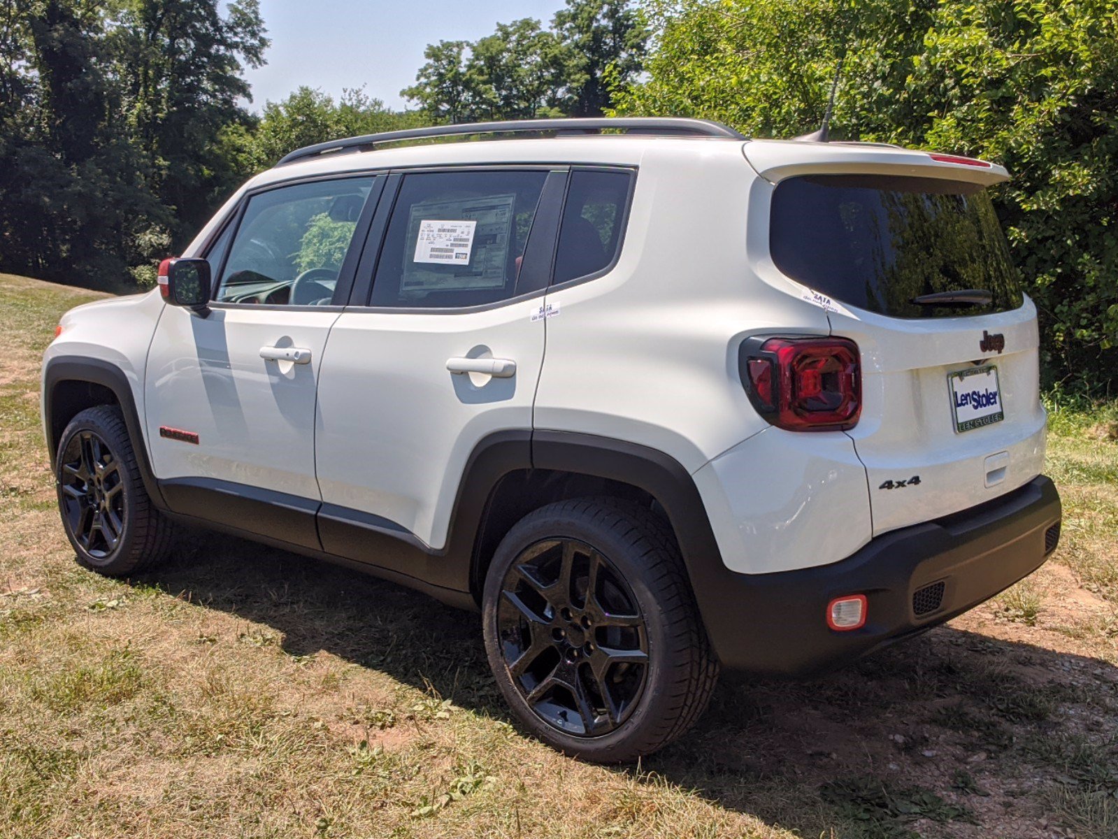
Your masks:
{"label": "large price sticker sheet with white label on rear door glass", "polygon": [[504,287],[515,202],[510,192],[411,205],[407,241],[416,245],[405,251],[401,293]]}

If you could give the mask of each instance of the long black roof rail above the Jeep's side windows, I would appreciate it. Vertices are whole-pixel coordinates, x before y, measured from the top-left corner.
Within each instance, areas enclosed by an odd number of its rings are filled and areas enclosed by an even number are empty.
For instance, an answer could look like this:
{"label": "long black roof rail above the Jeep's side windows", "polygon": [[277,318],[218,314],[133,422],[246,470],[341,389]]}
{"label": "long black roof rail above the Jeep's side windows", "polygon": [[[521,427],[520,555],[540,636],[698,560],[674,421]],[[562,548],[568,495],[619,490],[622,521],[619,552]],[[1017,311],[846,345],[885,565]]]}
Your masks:
{"label": "long black roof rail above the Jeep's side windows", "polygon": [[721,136],[730,140],[745,140],[733,129],[709,120],[690,120],[684,117],[660,116],[618,116],[618,117],[580,117],[563,120],[508,120],[505,122],[470,122],[457,125],[433,125],[426,129],[404,129],[400,131],[383,131],[379,134],[351,136],[345,140],[331,140],[297,149],[285,155],[276,166],[294,163],[296,160],[316,158],[321,154],[347,151],[371,151],[381,143],[396,143],[402,140],[427,140],[437,136],[458,136],[462,134],[519,134],[556,132],[565,134],[597,134],[603,131],[624,131],[627,134],[667,134],[676,136]]}

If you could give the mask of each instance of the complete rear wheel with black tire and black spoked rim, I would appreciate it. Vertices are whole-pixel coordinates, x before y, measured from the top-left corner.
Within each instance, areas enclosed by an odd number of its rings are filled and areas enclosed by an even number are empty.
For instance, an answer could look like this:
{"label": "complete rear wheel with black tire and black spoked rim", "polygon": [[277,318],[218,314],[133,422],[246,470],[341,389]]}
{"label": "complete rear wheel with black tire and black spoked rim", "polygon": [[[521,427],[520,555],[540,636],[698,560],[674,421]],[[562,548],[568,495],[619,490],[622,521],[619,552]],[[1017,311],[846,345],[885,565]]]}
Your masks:
{"label": "complete rear wheel with black tire and black spoked rim", "polygon": [[525,516],[498,547],[482,612],[513,714],[595,763],[662,748],[718,681],[671,529],[635,503],[579,499]]}

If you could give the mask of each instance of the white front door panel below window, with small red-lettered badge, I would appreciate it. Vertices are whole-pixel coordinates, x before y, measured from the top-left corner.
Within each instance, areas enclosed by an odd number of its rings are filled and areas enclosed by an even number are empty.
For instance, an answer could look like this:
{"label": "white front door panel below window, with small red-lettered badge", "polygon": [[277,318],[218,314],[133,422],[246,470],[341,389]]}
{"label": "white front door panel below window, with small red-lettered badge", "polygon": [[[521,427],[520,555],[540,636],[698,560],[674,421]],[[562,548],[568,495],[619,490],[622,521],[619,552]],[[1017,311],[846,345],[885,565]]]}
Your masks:
{"label": "white front door panel below window, with small red-lettered badge", "polygon": [[[314,399],[337,311],[168,309],[152,341],[145,431],[161,480],[205,478],[318,499]],[[266,346],[311,351],[310,364],[260,358]],[[198,435],[160,436],[162,426]]]}

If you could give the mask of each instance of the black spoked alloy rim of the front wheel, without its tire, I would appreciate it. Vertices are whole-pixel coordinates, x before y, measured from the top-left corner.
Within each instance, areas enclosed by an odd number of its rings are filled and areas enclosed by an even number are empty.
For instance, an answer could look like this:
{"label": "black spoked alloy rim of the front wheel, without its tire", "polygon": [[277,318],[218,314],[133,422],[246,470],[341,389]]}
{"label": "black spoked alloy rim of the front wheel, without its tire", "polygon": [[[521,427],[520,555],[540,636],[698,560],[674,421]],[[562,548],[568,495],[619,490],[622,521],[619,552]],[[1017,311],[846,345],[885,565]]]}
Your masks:
{"label": "black spoked alloy rim of the front wheel, without its tire", "polygon": [[74,539],[95,559],[107,558],[126,522],[121,464],[108,443],[89,430],[72,436],[59,460],[59,486]]}

